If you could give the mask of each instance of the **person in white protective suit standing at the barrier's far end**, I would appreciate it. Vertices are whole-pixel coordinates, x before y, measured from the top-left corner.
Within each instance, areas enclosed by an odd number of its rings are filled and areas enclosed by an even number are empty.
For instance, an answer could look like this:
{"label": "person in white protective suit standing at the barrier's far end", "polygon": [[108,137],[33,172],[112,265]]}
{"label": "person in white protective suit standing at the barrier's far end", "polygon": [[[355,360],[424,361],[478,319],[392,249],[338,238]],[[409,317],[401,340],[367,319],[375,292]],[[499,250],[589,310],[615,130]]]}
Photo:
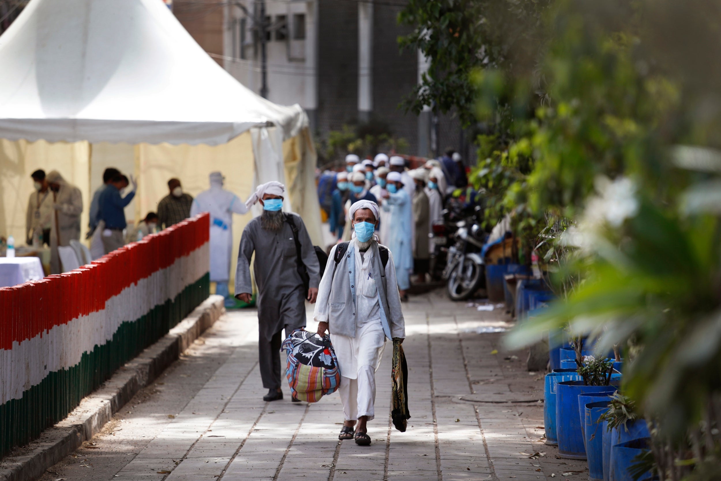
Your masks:
{"label": "person in white protective suit standing at the barrier's far end", "polygon": [[224,177],[211,172],[211,188],[199,193],[190,206],[190,216],[201,212],[211,214],[211,282],[216,283],[216,294],[226,298],[226,306],[234,306],[229,297],[230,259],[233,250],[233,214],[247,213],[240,198],[223,188]]}

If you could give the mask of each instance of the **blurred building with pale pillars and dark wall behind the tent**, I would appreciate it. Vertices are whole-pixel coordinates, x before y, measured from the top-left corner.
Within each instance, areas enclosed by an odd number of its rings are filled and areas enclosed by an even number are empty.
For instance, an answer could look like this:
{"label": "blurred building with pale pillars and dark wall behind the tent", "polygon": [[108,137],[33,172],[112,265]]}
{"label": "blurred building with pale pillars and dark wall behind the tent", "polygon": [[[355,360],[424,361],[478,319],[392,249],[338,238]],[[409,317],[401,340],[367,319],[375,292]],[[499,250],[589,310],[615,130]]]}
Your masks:
{"label": "blurred building with pale pillars and dark wall behind the tent", "polygon": [[467,149],[456,120],[441,117],[434,129],[430,109],[419,116],[399,108],[427,68],[417,52],[399,51],[397,38],[408,32],[397,24],[402,1],[174,0],[173,8],[242,84],[272,102],[304,107],[320,138],[342,125],[377,121],[406,139],[409,154]]}

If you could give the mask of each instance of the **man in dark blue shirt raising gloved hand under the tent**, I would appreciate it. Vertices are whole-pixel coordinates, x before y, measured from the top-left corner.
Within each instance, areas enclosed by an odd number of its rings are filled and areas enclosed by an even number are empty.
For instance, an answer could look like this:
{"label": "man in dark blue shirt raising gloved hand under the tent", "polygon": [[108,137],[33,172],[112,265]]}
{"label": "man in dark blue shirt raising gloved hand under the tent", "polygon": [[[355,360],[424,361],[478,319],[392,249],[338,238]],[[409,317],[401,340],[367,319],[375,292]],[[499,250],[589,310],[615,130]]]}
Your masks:
{"label": "man in dark blue shirt raising gloved hand under the tent", "polygon": [[120,197],[120,190],[128,187],[128,177],[117,174],[108,182],[105,190],[100,193],[99,198],[99,219],[105,222],[105,229],[102,231],[102,247],[105,254],[108,254],[125,245],[125,237],[123,237],[123,229],[128,224],[125,223],[125,206],[131,203],[135,197],[138,185],[135,179],[131,177],[133,182],[133,190],[125,197]]}

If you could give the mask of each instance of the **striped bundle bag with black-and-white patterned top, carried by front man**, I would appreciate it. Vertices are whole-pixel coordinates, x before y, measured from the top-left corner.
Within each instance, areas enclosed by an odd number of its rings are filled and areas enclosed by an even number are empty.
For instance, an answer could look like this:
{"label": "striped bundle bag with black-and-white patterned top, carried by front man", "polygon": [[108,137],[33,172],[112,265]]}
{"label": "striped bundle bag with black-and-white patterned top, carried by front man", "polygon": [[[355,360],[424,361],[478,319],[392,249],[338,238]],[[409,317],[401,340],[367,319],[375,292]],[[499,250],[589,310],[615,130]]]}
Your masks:
{"label": "striped bundle bag with black-and-white patterned top, carried by front man", "polygon": [[283,341],[288,353],[286,377],[296,399],[317,402],[340,385],[340,369],[330,337],[296,329]]}

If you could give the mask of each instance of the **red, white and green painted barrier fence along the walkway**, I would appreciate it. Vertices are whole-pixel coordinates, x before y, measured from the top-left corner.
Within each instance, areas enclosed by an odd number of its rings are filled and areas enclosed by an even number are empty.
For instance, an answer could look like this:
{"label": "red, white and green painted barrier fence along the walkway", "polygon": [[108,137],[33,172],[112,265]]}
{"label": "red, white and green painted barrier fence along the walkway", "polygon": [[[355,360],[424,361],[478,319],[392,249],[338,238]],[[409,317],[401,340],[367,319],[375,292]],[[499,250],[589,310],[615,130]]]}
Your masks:
{"label": "red, white and green painted barrier fence along the walkway", "polygon": [[80,400],[208,298],[201,214],[92,264],[0,288],[0,455]]}

